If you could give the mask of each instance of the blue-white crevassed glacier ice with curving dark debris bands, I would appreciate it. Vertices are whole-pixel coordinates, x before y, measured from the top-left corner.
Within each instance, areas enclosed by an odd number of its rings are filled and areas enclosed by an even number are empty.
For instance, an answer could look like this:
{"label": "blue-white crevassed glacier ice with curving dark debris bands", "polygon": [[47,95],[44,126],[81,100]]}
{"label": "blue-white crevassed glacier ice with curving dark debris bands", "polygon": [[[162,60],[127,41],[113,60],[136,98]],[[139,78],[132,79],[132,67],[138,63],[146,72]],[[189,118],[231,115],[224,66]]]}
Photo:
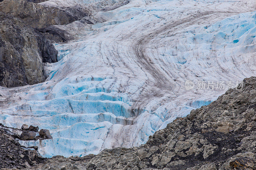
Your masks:
{"label": "blue-white crevassed glacier ice with curving dark debris bands", "polygon": [[20,141],[39,146],[45,157],[138,146],[227,90],[186,90],[186,80],[255,76],[252,0],[103,2],[97,1],[97,8],[94,1],[42,3],[86,6],[94,24],[61,26],[73,29],[77,39],[55,44],[59,62],[45,66],[46,82],[0,89],[1,123],[50,129],[52,140]]}

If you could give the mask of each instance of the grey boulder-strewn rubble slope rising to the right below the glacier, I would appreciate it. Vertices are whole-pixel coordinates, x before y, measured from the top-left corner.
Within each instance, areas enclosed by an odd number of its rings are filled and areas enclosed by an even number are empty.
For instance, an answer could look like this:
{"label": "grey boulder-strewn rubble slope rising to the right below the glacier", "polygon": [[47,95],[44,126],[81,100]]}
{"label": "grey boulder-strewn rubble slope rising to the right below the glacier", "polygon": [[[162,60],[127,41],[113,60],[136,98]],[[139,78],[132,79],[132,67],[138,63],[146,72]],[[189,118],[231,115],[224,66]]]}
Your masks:
{"label": "grey boulder-strewn rubble slope rising to the right below the glacier", "polygon": [[56,156],[35,169],[255,169],[256,77],[177,118],[146,144],[83,158]]}

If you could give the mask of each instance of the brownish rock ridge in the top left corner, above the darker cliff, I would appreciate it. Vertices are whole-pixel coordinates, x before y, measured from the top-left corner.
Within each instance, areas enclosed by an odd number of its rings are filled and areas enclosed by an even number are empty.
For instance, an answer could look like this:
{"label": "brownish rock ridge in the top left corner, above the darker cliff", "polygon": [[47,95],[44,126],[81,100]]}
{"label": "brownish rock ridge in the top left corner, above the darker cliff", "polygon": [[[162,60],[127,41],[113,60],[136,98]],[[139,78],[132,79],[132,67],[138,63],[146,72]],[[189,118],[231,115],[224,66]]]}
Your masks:
{"label": "brownish rock ridge in the top left corner, above the darker cliff", "polygon": [[50,25],[65,25],[77,18],[58,8],[44,7],[23,0],[4,0],[0,3],[0,11],[22,19],[19,26],[44,28]]}

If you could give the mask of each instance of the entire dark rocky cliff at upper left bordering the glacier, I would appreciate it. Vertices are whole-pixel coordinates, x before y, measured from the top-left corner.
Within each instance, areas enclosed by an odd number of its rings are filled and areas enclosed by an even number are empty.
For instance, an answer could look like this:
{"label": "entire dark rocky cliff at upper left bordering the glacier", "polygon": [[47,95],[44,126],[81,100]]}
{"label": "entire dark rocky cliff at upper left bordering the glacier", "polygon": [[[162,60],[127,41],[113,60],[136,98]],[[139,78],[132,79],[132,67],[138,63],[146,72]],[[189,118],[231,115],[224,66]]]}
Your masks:
{"label": "entire dark rocky cliff at upper left bordering the glacier", "polygon": [[1,2],[0,16],[0,86],[43,82],[43,63],[57,62],[58,52],[52,43],[67,40],[59,30],[46,33],[44,29],[68,24],[75,18],[57,8],[22,0]]}

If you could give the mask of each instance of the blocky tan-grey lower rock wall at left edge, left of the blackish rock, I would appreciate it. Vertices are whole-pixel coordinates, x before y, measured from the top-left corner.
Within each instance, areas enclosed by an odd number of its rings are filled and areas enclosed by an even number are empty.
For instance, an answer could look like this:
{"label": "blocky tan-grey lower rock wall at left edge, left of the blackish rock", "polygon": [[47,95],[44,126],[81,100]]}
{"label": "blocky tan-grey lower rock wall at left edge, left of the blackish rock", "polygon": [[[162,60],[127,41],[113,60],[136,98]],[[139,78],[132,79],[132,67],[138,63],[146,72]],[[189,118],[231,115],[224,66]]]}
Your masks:
{"label": "blocky tan-grey lower rock wall at left edge, left of the blackish rock", "polygon": [[43,82],[45,77],[38,47],[40,36],[32,29],[15,25],[12,19],[0,22],[0,36],[4,41],[0,85],[14,87]]}

